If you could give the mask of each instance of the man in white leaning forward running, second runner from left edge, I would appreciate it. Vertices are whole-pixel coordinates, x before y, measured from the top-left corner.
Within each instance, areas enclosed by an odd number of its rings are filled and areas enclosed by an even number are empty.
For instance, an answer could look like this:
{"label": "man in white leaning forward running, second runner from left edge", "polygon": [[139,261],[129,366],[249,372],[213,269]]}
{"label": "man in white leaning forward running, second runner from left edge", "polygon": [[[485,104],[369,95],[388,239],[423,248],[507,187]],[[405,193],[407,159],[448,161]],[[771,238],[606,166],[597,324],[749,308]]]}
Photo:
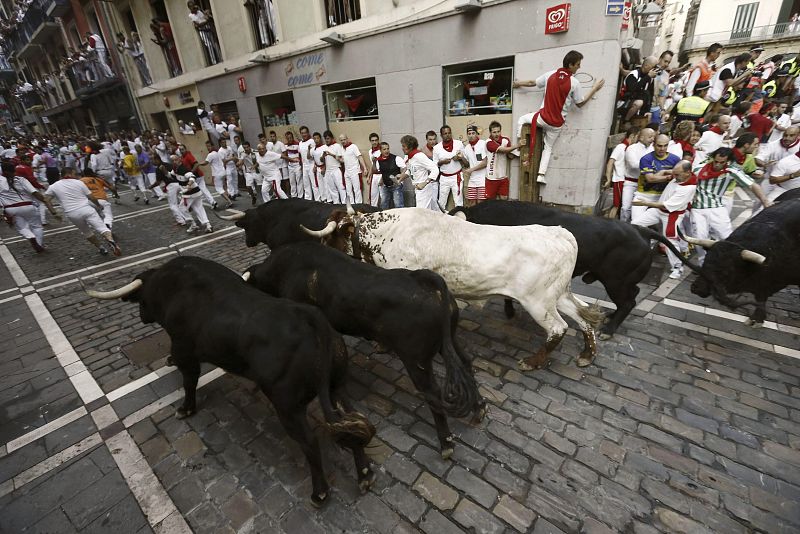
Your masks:
{"label": "man in white leaning forward running, second runner from left edge", "polygon": [[[98,248],[101,254],[108,254],[107,245],[114,256],[122,255],[122,250],[114,242],[111,230],[97,214],[97,210],[102,209],[100,204],[92,197],[92,192],[89,191],[86,184],[75,176],[73,169],[64,169],[61,172],[61,180],[48,187],[44,195],[58,199],[67,219],[78,227],[78,230]],[[95,232],[105,238],[105,243],[100,242]]]}

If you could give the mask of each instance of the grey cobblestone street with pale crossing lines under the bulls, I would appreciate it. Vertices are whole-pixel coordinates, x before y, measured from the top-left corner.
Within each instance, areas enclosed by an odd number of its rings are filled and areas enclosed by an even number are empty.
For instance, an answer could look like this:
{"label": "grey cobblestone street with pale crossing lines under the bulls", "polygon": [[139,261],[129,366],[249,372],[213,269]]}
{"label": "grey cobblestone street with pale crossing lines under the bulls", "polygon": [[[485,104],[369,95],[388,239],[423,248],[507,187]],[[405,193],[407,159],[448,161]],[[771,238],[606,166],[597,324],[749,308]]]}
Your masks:
{"label": "grey cobblestone street with pale crossing lines under the bulls", "polygon": [[[352,456],[319,427],[333,491],[315,509],[304,457],[252,383],[204,368],[198,413],[176,419],[180,373],[164,354],[128,357],[160,328],[80,283],[118,287],[176,250],[242,271],[268,250],[228,222],[190,236],[166,203],[127,192],[122,203],[121,258],[64,223],[47,227],[39,255],[0,228],[2,532],[800,531],[797,287],[754,329],[742,310],[691,294],[694,275],[668,280],[659,257],[594,365],[576,366],[583,340],[570,330],[548,369],[526,373],[517,360],[543,343],[531,318],[506,319],[500,299],[461,303],[458,334],[489,410],[477,426],[451,420],[448,461],[401,362],[346,338],[348,391],[377,428],[377,480],[360,495]],[[576,279],[573,291],[610,306],[598,284]],[[316,402],[311,415],[321,420]]]}

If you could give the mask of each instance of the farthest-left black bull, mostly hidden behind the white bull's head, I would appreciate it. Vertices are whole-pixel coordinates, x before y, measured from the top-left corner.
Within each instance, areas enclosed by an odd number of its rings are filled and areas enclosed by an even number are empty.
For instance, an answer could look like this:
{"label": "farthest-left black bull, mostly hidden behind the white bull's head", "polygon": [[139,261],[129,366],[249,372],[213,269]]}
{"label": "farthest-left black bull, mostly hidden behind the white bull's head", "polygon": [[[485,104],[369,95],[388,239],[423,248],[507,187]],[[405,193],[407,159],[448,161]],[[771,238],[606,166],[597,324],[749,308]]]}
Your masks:
{"label": "farthest-left black bull, mostly hidden behind the white bull's head", "polygon": [[[369,204],[356,204],[354,208],[361,213],[379,211]],[[234,215],[218,215],[218,217],[236,221],[236,226],[244,228],[248,247],[264,243],[274,250],[287,243],[319,241],[303,232],[300,225],[306,228],[322,228],[328,222],[330,214],[336,210],[344,211],[346,206],[289,198],[267,202],[245,212],[229,210],[233,211]]]}

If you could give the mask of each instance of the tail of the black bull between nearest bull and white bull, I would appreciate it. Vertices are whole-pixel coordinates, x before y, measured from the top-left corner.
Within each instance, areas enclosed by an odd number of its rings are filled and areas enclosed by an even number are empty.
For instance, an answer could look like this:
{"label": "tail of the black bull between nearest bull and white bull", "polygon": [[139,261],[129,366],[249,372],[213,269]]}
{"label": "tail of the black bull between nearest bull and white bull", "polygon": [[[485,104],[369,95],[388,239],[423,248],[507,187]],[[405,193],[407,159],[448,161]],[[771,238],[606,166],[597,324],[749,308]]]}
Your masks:
{"label": "tail of the black bull between nearest bull and white bull", "polygon": [[444,306],[449,308],[451,320],[442,321],[442,347],[439,352],[444,360],[445,380],[440,404],[453,417],[466,417],[470,414],[479,417],[484,401],[478,392],[469,359],[453,337],[458,324],[458,305],[451,297],[449,302],[445,299]]}

